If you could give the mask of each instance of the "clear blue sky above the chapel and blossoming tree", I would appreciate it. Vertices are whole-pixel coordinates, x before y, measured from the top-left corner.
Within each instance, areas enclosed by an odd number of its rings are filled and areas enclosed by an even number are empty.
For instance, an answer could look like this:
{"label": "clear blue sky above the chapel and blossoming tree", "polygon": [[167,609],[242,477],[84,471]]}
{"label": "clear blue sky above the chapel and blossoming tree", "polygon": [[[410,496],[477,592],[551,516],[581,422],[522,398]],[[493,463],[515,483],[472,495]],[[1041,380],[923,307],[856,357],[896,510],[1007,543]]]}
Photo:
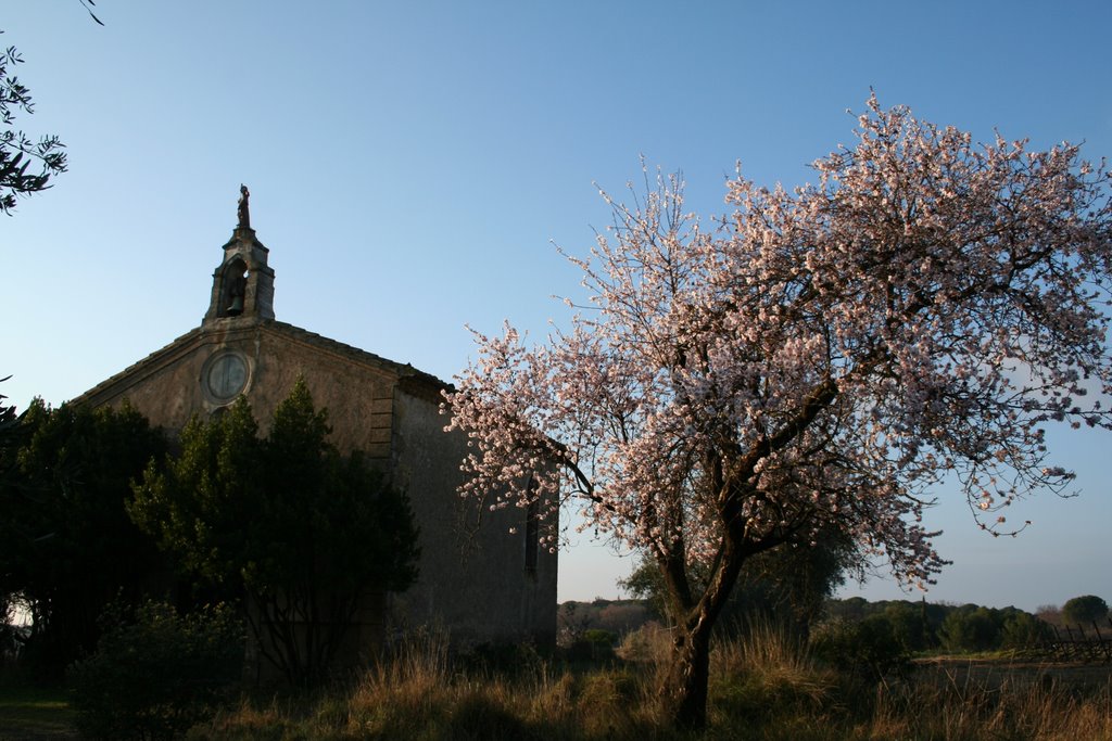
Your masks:
{"label": "clear blue sky above the chapel and blossoming tree", "polygon": [[[450,380],[464,329],[543,337],[638,156],[723,208],[741,160],[794,186],[883,106],[1112,154],[1108,0],[1056,2],[3,2],[70,172],[0,218],[0,384],[57,404],[200,323],[239,183],[279,319]],[[1112,435],[1054,435],[1081,495],[1027,501],[1014,540],[953,491],[932,600],[1112,601]],[[559,597],[617,594],[632,559],[577,540]],[[857,593],[856,587],[846,594]],[[901,597],[873,579],[871,599]],[[917,594],[912,595],[917,599]]]}

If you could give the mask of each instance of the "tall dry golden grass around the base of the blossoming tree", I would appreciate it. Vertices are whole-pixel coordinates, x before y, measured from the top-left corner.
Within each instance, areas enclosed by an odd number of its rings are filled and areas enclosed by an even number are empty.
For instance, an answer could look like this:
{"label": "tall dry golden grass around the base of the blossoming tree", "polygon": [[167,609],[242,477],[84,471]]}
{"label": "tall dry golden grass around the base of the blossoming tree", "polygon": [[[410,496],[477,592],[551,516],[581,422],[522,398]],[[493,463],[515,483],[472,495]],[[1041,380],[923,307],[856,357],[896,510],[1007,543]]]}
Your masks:
{"label": "tall dry golden grass around the base of the blossoming tree", "polygon": [[939,665],[865,685],[770,624],[715,650],[709,725],[682,733],[657,701],[668,647],[667,631],[648,629],[627,638],[612,664],[582,669],[534,654],[507,670],[459,661],[441,637],[420,635],[351,683],[310,699],[244,702],[189,738],[1112,741],[1112,669],[1078,683],[1040,668]]}

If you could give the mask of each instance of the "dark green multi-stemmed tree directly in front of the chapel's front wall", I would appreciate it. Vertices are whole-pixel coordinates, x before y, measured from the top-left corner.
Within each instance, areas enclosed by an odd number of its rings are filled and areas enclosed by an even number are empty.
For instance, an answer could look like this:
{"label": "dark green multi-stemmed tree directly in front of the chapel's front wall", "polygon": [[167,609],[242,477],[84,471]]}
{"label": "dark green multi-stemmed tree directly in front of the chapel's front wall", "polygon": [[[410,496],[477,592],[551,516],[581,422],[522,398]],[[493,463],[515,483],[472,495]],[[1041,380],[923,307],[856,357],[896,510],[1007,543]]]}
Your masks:
{"label": "dark green multi-stemmed tree directly in front of the chapel's front wall", "polygon": [[244,398],[193,418],[129,510],[200,587],[248,599],[259,651],[295,684],[326,674],[364,600],[417,577],[408,500],[360,454],[340,454],[327,419],[304,380],[265,438]]}

